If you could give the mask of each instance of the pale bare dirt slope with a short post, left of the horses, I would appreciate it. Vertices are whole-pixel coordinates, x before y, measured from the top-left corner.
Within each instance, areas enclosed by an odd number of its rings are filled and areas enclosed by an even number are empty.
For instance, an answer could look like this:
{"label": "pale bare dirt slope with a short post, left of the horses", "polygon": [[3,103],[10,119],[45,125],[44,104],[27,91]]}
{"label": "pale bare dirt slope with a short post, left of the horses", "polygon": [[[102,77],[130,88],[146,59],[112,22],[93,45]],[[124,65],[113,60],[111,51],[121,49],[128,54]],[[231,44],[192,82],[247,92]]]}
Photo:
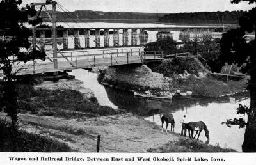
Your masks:
{"label": "pale bare dirt slope with a short post, left of the horses", "polygon": [[[5,114],[0,116],[3,118]],[[129,113],[86,120],[31,114],[19,114],[19,118],[20,129],[64,141],[77,152],[95,152],[98,134],[101,134],[100,152],[147,152],[148,148],[157,148],[178,138]]]}

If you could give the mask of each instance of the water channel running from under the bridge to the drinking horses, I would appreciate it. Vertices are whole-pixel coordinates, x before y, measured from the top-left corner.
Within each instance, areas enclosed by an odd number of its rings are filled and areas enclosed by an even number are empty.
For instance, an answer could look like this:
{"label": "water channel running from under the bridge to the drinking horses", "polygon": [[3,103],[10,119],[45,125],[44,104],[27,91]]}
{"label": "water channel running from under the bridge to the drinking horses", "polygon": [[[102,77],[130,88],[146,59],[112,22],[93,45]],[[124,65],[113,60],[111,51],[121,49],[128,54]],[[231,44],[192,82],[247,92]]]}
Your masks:
{"label": "water channel running from under the bridge to the drinking horses", "polygon": [[[245,129],[238,126],[221,125],[227,118],[234,118],[238,103],[231,103],[229,98],[173,98],[172,101],[152,100],[134,97],[133,93],[102,86],[97,81],[97,73],[87,70],[73,70],[72,75],[84,82],[85,88],[94,91],[95,97],[102,106],[126,109],[130,113],[145,117],[145,120],[161,125],[161,115],[172,113],[175,118],[175,132],[180,133],[182,116],[188,121],[204,121],[209,129],[210,144],[223,148],[232,148],[241,152]],[[239,102],[250,105],[250,99]],[[246,120],[246,117],[244,117]],[[170,128],[169,128],[170,129]],[[161,134],[159,129],[159,134]],[[206,141],[204,131],[200,139]]]}

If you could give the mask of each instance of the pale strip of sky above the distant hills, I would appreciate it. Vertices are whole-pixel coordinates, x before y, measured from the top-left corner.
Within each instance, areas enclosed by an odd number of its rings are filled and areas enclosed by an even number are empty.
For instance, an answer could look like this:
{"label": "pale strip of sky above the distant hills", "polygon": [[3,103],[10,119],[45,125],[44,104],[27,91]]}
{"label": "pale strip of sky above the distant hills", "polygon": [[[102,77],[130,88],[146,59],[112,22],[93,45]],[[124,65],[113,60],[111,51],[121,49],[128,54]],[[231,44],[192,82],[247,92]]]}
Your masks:
{"label": "pale strip of sky above the distant hills", "polygon": [[[45,0],[23,0],[24,4]],[[243,2],[231,4],[230,0],[56,0],[58,4],[74,10],[97,10],[104,12],[205,12],[250,10],[253,5]],[[57,8],[58,10],[58,8]]]}

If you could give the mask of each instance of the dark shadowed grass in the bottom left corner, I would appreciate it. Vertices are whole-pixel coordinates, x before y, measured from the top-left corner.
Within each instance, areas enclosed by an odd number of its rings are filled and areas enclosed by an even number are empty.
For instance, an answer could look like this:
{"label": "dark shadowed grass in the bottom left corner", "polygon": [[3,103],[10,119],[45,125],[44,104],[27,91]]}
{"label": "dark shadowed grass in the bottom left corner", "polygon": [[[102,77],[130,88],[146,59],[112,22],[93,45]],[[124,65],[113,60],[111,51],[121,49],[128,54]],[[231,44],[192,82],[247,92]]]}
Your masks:
{"label": "dark shadowed grass in the bottom left corner", "polygon": [[0,120],[0,144],[0,152],[72,152],[66,143],[23,130],[12,132],[12,127],[3,120]]}

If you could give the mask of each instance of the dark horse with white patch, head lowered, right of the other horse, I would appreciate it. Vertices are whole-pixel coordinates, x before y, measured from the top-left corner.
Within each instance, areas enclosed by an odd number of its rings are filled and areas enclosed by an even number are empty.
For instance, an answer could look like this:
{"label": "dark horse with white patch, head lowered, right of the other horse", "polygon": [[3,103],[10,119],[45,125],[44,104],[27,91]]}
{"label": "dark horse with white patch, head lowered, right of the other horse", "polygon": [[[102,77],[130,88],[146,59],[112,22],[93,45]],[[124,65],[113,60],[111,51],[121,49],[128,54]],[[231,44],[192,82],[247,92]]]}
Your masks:
{"label": "dark horse with white patch, head lowered, right of the other horse", "polygon": [[[184,129],[185,129],[184,136],[186,136],[186,130],[188,129],[189,138],[195,139],[196,134],[198,134],[198,132],[199,132],[198,137],[197,137],[197,139],[198,139],[200,136],[200,133],[202,132],[202,130],[204,130],[207,141],[209,141],[209,139],[210,139],[209,130],[207,129],[207,126],[205,125],[205,123],[202,121],[182,123],[182,127],[184,127]],[[193,136],[194,130],[196,131],[195,136]],[[191,136],[190,136],[190,132],[191,132]]]}

